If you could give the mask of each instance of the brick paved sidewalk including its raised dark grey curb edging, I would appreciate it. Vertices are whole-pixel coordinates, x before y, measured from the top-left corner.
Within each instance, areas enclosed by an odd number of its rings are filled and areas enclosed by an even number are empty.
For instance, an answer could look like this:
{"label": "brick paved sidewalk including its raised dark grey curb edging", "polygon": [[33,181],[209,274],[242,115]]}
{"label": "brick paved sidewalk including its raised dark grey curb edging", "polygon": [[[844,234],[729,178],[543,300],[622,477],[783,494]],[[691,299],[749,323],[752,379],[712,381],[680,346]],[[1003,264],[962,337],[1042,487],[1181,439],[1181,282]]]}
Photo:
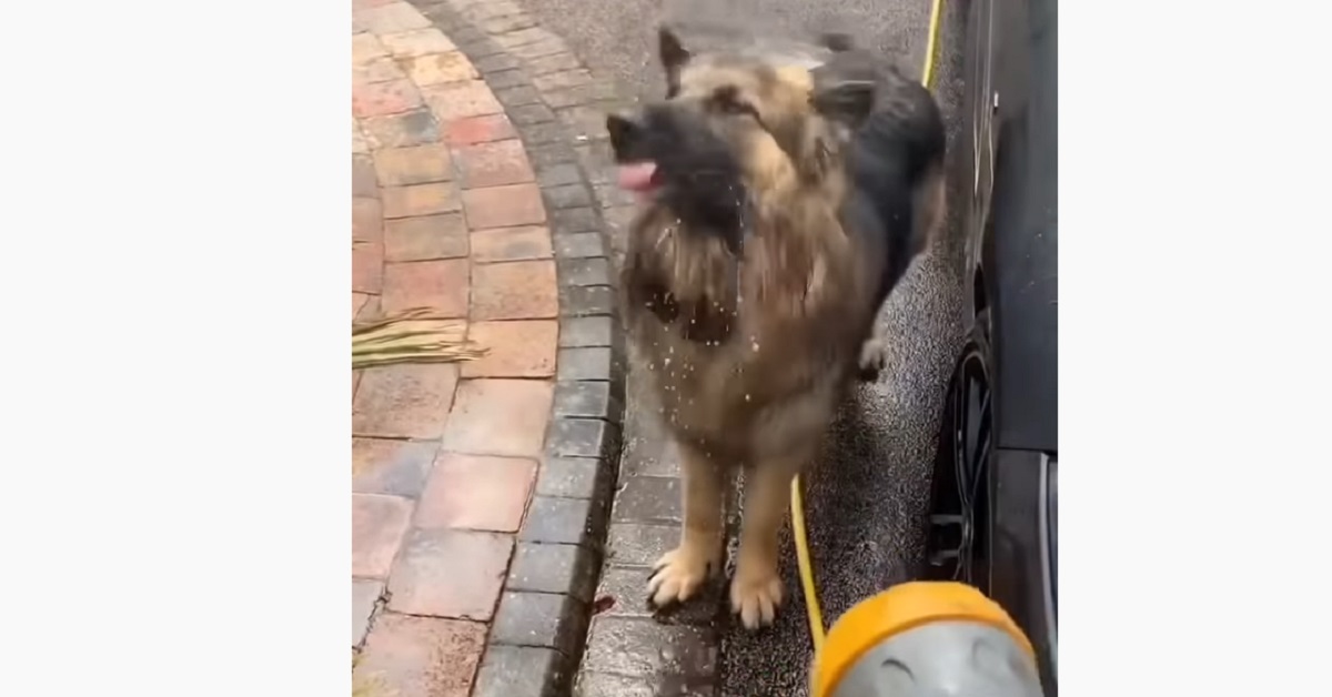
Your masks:
{"label": "brick paved sidewalk including its raised dark grey curb edging", "polygon": [[565,693],[622,390],[598,225],[561,220],[590,184],[534,168],[531,111],[412,4],[356,0],[352,53],[353,319],[426,307],[489,349],[353,372],[356,680],[370,697]]}

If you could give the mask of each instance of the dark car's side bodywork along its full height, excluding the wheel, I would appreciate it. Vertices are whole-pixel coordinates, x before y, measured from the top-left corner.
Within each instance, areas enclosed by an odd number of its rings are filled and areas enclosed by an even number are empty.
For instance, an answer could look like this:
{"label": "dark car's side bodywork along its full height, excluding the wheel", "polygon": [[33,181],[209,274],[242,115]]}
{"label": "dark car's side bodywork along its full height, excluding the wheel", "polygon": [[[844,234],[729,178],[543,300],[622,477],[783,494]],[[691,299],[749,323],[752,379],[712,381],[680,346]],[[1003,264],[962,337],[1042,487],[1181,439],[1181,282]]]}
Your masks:
{"label": "dark car's side bodywork along its full height, excluding the wheel", "polygon": [[1056,0],[974,0],[959,143],[972,183],[964,321],[970,333],[984,319],[992,350],[988,573],[972,581],[1031,637],[1047,697],[1058,696],[1056,21]]}

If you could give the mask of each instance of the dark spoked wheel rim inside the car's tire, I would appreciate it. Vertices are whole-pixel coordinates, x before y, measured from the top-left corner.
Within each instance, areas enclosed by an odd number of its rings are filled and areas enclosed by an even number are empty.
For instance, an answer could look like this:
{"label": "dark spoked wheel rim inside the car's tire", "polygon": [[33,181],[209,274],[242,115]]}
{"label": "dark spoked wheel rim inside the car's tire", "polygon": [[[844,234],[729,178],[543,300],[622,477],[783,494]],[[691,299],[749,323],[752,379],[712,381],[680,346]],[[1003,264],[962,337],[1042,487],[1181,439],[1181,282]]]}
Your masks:
{"label": "dark spoked wheel rim inside the car's tire", "polygon": [[986,573],[986,469],[991,449],[991,390],[986,360],[979,347],[970,345],[958,361],[948,390],[948,428],[940,444],[951,461],[931,516],[935,528],[930,564],[936,574],[976,584]]}

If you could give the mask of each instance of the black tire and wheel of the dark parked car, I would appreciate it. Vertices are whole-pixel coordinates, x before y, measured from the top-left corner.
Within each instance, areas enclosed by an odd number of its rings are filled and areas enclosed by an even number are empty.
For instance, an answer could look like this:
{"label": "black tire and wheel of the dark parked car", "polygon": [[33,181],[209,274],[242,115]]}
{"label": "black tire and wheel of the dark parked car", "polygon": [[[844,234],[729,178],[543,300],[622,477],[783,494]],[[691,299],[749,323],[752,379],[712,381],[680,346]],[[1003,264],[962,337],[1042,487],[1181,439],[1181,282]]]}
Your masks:
{"label": "black tire and wheel of the dark parked car", "polygon": [[930,516],[926,569],[930,580],[962,581],[988,592],[990,472],[994,453],[994,352],[990,309],[982,308],[944,393]]}

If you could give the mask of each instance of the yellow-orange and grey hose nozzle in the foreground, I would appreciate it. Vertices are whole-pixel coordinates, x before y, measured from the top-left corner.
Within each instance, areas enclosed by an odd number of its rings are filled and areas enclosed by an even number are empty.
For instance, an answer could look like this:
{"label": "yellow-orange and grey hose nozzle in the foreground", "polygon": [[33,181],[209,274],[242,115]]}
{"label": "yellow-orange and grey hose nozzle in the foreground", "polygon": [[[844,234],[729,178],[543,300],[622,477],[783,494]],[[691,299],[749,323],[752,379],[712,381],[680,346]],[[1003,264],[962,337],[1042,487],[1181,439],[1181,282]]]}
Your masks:
{"label": "yellow-orange and grey hose nozzle in the foreground", "polygon": [[1031,641],[964,584],[892,586],[847,610],[814,660],[813,697],[1040,697]]}

